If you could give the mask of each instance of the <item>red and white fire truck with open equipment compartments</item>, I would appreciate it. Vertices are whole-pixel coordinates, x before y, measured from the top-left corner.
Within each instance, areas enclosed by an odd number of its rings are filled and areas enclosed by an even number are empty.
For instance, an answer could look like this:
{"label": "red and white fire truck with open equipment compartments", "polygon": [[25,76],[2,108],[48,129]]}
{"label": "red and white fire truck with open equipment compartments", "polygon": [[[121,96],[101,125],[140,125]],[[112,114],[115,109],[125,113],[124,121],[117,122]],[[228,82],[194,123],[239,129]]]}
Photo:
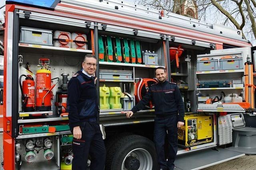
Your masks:
{"label": "red and white fire truck with open equipment compartments", "polygon": [[154,102],[130,119],[125,113],[157,83],[159,66],[185,105],[177,169],[256,154],[256,49],[241,30],[122,0],[48,2],[6,1],[0,41],[5,170],[71,170],[67,84],[86,54],[97,57],[106,170],[158,169]]}

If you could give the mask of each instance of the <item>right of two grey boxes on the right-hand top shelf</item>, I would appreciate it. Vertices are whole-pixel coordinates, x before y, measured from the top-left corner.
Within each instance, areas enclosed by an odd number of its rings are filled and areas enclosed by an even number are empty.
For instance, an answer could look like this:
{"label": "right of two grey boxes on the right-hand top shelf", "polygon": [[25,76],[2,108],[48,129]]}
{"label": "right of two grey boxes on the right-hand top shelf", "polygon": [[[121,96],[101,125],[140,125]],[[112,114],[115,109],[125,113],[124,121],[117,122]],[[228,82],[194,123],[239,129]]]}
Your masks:
{"label": "right of two grey boxes on the right-hand top shelf", "polygon": [[220,70],[243,69],[243,59],[220,59]]}

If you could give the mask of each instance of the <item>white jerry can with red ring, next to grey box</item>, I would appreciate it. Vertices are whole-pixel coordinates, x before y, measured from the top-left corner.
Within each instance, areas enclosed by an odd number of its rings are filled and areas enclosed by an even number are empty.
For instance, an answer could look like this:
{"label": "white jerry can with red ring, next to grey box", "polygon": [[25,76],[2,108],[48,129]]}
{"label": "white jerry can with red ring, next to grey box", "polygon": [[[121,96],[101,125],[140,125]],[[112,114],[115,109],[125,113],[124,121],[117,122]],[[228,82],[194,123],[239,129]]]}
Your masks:
{"label": "white jerry can with red ring, next to grey box", "polygon": [[54,31],[54,47],[71,48],[71,33],[66,31]]}

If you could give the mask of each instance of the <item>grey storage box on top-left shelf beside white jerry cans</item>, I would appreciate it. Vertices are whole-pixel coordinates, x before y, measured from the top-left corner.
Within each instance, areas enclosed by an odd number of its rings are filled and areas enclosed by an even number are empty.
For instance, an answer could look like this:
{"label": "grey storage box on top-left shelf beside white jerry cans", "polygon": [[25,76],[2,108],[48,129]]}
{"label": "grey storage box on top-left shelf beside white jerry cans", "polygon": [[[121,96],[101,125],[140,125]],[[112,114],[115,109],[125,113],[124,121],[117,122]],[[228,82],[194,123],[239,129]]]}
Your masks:
{"label": "grey storage box on top-left shelf beside white jerry cans", "polygon": [[52,46],[52,31],[29,27],[20,27],[20,43]]}

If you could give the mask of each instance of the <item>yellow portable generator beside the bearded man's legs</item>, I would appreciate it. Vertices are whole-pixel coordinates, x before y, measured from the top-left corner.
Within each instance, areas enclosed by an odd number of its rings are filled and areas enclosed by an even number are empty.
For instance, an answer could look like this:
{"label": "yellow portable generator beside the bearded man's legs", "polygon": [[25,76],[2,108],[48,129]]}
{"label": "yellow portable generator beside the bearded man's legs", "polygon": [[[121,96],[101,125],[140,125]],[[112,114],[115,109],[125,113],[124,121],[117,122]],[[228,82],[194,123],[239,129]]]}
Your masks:
{"label": "yellow portable generator beside the bearded man's legs", "polygon": [[192,147],[213,141],[213,117],[206,115],[185,115],[185,123],[178,129],[178,143],[183,147]]}

